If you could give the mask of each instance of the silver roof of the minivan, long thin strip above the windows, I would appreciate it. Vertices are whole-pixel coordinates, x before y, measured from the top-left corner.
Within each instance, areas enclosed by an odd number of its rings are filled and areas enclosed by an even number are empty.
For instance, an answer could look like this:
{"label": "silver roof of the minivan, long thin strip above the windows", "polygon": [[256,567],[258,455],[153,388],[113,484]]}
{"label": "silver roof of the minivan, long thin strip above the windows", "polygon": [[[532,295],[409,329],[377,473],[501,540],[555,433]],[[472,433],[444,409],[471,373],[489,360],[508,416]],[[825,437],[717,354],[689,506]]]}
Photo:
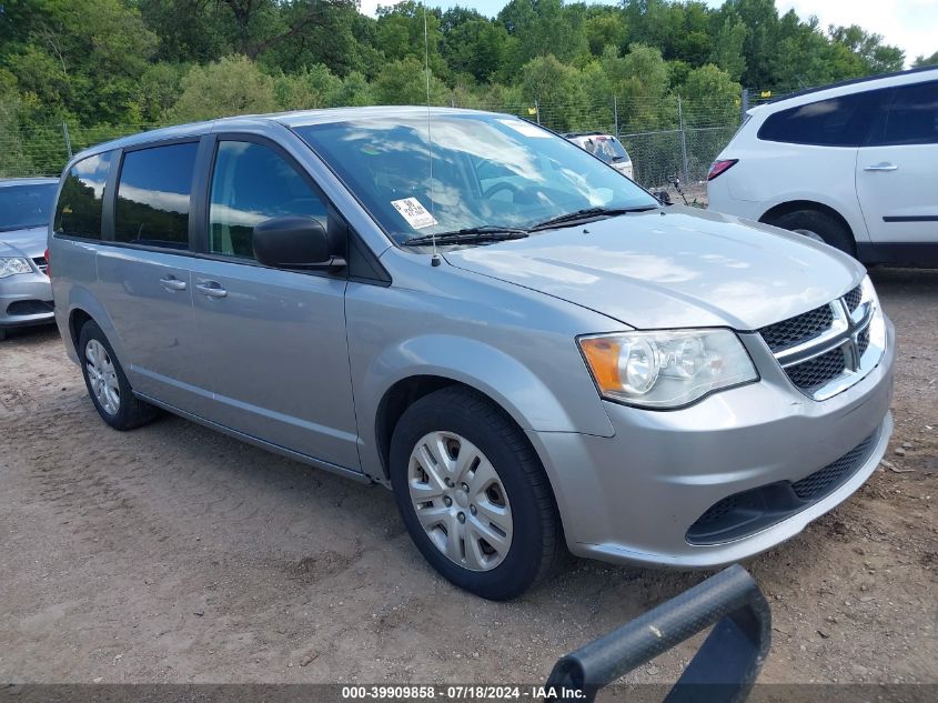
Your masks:
{"label": "silver roof of the minivan, long thin strip above the windows", "polygon": [[[203,122],[190,122],[174,127],[162,127],[147,132],[139,132],[129,137],[121,137],[111,141],[102,142],[90,147],[80,155],[101,153],[112,149],[135,147],[153,141],[175,139],[205,134],[210,131],[219,131],[226,125],[238,129],[239,125],[258,123],[278,123],[288,128],[306,127],[310,124],[326,124],[331,122],[344,122],[351,119],[389,119],[389,118],[426,118],[454,114],[497,114],[480,110],[463,108],[426,108],[421,106],[376,106],[366,108],[327,108],[323,110],[295,110],[291,112],[273,112],[270,114],[241,114],[230,118],[219,118]],[[514,117],[514,116],[503,116]],[[77,154],[79,155],[79,154]]]}

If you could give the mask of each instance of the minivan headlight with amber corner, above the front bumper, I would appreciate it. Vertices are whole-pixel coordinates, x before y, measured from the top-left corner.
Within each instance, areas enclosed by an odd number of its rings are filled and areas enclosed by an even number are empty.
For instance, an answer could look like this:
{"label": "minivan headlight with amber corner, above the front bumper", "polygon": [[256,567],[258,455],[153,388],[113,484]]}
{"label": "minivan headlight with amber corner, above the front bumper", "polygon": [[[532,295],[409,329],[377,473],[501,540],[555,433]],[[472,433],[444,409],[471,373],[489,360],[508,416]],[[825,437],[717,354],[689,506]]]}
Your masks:
{"label": "minivan headlight with amber corner, above the front bumper", "polygon": [[759,379],[729,330],[622,332],[577,342],[603,398],[629,405],[678,408]]}

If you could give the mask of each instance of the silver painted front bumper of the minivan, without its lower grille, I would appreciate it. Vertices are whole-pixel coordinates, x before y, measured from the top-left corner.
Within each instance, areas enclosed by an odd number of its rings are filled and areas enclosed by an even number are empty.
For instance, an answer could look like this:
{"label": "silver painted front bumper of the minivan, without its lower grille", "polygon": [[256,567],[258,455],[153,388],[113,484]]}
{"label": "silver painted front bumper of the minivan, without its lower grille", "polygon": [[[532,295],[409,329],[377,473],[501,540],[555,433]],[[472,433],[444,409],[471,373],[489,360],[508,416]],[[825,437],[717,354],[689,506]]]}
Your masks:
{"label": "silver painted front bumper of the minivan, without its lower grille", "polygon": [[[768,550],[849,498],[869,478],[892,430],[895,331],[863,380],[823,402],[767,362],[758,383],[670,412],[605,403],[615,436],[528,432],[554,488],[567,545],[608,562],[716,568]],[[777,366],[777,364],[776,364]],[[720,501],[799,482],[868,440],[829,492],[735,539],[692,543],[688,530]]]}

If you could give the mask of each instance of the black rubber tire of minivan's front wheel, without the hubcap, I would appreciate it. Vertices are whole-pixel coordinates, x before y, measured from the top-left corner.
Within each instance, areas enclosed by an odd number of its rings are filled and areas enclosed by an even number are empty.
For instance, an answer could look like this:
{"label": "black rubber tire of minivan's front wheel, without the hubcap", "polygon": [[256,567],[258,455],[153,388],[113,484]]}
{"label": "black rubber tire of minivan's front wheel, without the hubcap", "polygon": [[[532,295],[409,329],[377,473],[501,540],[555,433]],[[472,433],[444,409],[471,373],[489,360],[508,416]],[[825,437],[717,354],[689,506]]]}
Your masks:
{"label": "black rubber tire of minivan's front wheel, without the hubcap", "polygon": [[[513,538],[504,560],[488,571],[472,571],[451,561],[416,516],[407,485],[411,452],[423,436],[441,431],[475,444],[497,472],[507,494]],[[446,388],[422,398],[404,412],[391,440],[391,482],[411,539],[426,561],[461,589],[484,599],[505,601],[545,580],[565,561],[561,519],[541,461],[511,418],[478,393]]]}

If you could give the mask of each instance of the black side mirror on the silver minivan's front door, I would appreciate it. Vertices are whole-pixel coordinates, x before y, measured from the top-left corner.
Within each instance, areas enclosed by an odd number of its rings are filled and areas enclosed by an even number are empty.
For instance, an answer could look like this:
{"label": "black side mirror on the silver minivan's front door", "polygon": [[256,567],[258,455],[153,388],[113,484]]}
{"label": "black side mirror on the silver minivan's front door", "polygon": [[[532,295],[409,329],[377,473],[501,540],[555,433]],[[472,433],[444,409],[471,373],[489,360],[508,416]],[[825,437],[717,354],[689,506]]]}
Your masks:
{"label": "black side mirror on the silver minivan's front door", "polygon": [[284,215],[254,228],[254,258],[275,269],[341,269],[345,259],[333,254],[332,242],[319,220]]}

